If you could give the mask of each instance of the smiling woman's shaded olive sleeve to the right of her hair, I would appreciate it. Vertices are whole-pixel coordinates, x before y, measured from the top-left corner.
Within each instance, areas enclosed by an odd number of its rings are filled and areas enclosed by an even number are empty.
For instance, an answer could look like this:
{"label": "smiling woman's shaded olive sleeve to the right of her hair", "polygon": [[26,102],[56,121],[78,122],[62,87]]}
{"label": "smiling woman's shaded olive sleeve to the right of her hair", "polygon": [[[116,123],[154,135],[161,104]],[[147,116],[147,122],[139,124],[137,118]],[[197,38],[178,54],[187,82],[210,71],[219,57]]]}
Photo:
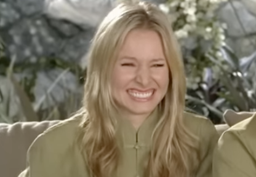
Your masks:
{"label": "smiling woman's shaded olive sleeve to the right of her hair", "polygon": [[199,136],[199,168],[196,177],[212,177],[212,156],[218,142],[218,132],[214,124],[206,119],[201,125]]}

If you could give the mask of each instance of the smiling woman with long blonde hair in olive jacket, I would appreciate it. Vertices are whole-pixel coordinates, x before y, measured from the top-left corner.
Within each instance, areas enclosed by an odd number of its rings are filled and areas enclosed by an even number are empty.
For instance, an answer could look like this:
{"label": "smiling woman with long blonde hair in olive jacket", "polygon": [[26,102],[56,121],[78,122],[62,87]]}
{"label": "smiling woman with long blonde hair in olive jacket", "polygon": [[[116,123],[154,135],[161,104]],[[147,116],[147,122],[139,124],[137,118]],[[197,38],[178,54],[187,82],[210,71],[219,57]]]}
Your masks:
{"label": "smiling woman with long blonde hair in olive jacket", "polygon": [[158,7],[119,4],[87,60],[82,109],[34,141],[20,177],[212,176],[217,131],[184,111],[182,56]]}

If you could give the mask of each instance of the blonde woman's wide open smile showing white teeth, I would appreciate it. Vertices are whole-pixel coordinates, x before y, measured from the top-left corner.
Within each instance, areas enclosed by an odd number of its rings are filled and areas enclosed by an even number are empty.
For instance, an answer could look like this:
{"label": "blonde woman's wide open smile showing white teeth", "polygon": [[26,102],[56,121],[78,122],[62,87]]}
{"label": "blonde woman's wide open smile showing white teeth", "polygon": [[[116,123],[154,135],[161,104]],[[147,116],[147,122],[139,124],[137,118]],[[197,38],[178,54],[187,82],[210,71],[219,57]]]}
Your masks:
{"label": "blonde woman's wide open smile showing white teeth", "polygon": [[138,90],[129,89],[127,92],[134,100],[148,101],[153,97],[155,90],[150,89],[146,90],[145,92],[140,92]]}

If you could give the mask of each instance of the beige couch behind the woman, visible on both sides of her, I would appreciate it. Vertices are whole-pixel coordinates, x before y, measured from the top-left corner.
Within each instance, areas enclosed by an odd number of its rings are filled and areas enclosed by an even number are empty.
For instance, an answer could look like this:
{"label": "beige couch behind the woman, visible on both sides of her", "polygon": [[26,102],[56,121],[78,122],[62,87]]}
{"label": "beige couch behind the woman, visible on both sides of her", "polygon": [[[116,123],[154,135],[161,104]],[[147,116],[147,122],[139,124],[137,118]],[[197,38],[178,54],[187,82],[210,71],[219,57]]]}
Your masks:
{"label": "beige couch behind the woman, visible on both sides of her", "polygon": [[[223,115],[226,124],[215,125],[222,134],[230,126],[250,117],[250,112],[228,110]],[[26,167],[26,152],[36,136],[60,120],[42,122],[17,122],[0,124],[0,176],[17,177]]]}

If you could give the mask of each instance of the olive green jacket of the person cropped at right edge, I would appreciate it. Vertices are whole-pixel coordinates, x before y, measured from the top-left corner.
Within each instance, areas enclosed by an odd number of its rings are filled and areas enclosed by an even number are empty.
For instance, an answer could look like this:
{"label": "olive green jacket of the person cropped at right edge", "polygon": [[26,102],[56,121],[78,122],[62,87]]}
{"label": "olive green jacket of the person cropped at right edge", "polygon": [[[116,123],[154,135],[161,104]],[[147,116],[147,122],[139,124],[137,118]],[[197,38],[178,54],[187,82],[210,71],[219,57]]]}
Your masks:
{"label": "olive green jacket of the person cropped at right edge", "polygon": [[231,127],[214,151],[214,177],[256,176],[256,113]]}

